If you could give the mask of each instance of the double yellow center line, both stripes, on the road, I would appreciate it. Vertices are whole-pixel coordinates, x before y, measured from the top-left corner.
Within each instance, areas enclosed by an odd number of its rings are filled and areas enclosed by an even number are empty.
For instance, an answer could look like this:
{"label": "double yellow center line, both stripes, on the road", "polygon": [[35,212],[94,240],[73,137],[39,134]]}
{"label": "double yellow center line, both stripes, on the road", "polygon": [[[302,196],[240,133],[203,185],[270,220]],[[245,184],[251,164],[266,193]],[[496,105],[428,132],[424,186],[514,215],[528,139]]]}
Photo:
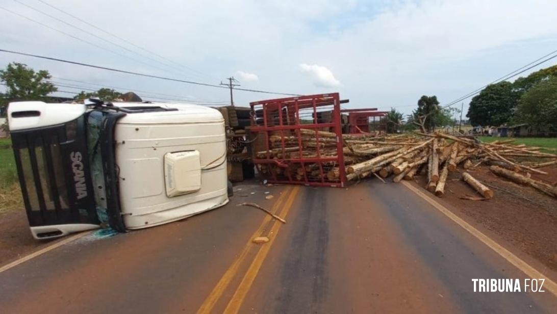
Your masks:
{"label": "double yellow center line, both stripes, on the road", "polygon": [[[286,187],[280,197],[277,198],[275,204],[273,204],[271,212],[281,217],[286,217],[286,215],[290,211],[290,208],[292,207],[292,203],[294,203],[294,200],[296,199],[296,195],[298,194],[299,189],[299,186]],[[217,285],[213,288],[213,291],[209,293],[209,296],[207,296],[201,307],[199,307],[197,313],[211,313],[213,307],[216,305],[219,298],[221,298],[224,291],[228,288],[232,279],[237,276],[238,269],[245,261],[248,253],[251,251],[252,248],[257,248],[258,251],[255,258],[251,262],[250,267],[248,267],[231,300],[228,302],[224,313],[237,313],[240,310],[243,300],[246,298],[248,291],[250,291],[253,280],[256,278],[261,265],[265,261],[265,258],[267,257],[267,254],[270,251],[273,242],[275,242],[278,230],[280,230],[281,228],[282,223],[275,221],[275,223],[272,224],[269,232],[263,234],[267,225],[271,222],[271,219],[272,217],[270,216],[266,216],[265,219],[263,219],[259,228],[257,228],[256,232],[253,233],[253,235],[250,237],[240,255],[234,260],[234,262],[232,262],[227,271],[224,272],[221,280],[219,280]],[[269,237],[269,242],[262,245],[253,244],[251,240],[260,235],[266,235],[267,237]]]}

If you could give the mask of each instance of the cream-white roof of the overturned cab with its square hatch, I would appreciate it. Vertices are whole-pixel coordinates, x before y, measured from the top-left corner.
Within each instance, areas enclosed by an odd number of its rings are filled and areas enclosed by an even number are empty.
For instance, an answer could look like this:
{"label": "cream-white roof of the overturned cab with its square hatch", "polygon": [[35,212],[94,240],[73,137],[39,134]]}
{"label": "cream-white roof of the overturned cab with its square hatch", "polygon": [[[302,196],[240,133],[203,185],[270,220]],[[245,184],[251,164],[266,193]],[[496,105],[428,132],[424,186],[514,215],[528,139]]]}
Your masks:
{"label": "cream-white roof of the overturned cab with its square hatch", "polygon": [[[222,115],[217,110],[197,105],[164,106],[179,111],[128,114],[116,123],[120,207],[128,229],[172,222],[228,202]],[[165,156],[186,151],[197,151],[197,156],[182,156],[188,162],[180,165],[182,170],[173,172],[174,180],[179,181],[178,190],[189,193],[171,193],[169,195],[173,196],[169,197]],[[138,160],[149,161],[138,163]],[[191,172],[196,173],[196,169],[199,169],[199,180]]]}

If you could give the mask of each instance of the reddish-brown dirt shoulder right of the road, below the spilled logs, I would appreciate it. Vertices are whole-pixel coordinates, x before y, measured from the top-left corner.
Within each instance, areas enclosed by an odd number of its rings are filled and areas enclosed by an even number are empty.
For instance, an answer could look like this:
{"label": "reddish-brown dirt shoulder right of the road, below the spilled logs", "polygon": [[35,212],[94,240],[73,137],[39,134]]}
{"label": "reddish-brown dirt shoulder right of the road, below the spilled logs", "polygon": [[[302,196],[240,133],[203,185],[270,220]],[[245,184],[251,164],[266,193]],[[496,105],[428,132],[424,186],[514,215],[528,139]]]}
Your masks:
{"label": "reddish-brown dirt shoulder right of the road, below the spilled logs", "polygon": [[[557,183],[557,167],[540,170],[549,174],[536,175],[535,179]],[[490,200],[460,199],[466,194],[480,196],[462,181],[462,171],[459,168],[458,172],[449,173],[446,193],[442,198],[434,198],[460,217],[471,218],[466,220],[472,220],[473,224],[499,235],[520,251],[557,270],[557,199],[501,179],[483,167],[467,171],[488,185],[495,196]],[[423,188],[426,180],[425,176],[419,176],[413,184]]]}

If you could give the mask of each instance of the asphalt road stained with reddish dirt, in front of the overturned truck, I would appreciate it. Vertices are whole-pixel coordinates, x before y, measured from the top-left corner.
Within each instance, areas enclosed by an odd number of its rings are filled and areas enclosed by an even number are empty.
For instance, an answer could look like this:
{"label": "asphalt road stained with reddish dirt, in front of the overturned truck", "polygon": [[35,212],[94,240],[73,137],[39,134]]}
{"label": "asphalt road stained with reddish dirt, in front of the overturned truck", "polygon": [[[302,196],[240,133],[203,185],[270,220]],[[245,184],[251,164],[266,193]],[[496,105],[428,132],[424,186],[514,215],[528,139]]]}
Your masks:
{"label": "asphalt road stained with reddish dirt, in front of the overturned truck", "polygon": [[[400,184],[238,185],[226,207],[89,235],[0,273],[3,313],[555,312],[550,292],[473,292],[526,275]],[[241,189],[241,190],[238,190]],[[274,197],[266,200],[264,192]],[[255,194],[251,194],[255,192]],[[243,196],[242,196],[243,195]],[[241,202],[270,208],[286,224]],[[270,242],[254,244],[256,235]]]}

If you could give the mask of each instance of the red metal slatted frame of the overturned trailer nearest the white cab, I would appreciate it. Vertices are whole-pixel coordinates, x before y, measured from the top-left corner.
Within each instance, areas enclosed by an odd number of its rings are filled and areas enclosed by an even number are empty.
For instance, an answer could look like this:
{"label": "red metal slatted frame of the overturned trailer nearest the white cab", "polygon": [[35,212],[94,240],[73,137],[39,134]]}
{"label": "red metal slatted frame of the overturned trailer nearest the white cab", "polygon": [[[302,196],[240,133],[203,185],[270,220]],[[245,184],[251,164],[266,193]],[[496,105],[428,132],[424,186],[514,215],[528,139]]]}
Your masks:
{"label": "red metal slatted frame of the overturned trailer nearest the white cab", "polygon": [[[250,106],[252,109],[250,132],[252,135],[255,135],[255,139],[263,136],[260,140],[264,142],[263,148],[265,148],[265,151],[263,151],[265,158],[261,158],[262,154],[254,152],[253,163],[268,182],[321,187],[345,186],[346,175],[340,122],[340,97],[338,93],[255,101],[251,102]],[[303,156],[304,143],[302,143],[301,139],[301,129],[315,131],[315,156]],[[319,131],[324,130],[331,131],[336,135],[336,145],[334,145],[336,156],[322,154],[323,149],[320,146],[325,146],[326,141],[320,140],[325,137],[320,135]],[[281,151],[282,158],[273,158],[271,156],[271,136],[280,136],[280,147],[275,149]],[[293,141],[298,149],[296,150],[295,147],[291,146],[287,150],[286,144],[292,145]],[[307,141],[305,144],[307,145]],[[297,158],[287,156],[287,151],[297,151]],[[310,178],[306,174],[306,164],[317,164],[319,166],[318,179]],[[291,173],[290,169],[294,168],[292,167],[293,165],[303,167],[304,174],[301,176]],[[334,167],[339,169],[339,178],[329,180],[326,171]],[[268,170],[267,173],[262,171],[264,168]]]}

